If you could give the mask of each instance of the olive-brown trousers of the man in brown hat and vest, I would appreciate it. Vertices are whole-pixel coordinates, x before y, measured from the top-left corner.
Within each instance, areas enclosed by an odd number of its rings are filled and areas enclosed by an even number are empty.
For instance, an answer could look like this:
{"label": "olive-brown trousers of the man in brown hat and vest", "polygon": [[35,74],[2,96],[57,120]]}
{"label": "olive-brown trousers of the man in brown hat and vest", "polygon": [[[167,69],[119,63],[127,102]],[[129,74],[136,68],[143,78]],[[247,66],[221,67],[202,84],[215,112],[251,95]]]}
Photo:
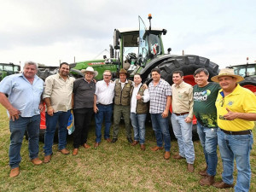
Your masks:
{"label": "olive-brown trousers of the man in brown hat and vest", "polygon": [[113,138],[118,137],[119,123],[120,123],[122,114],[125,120],[126,137],[131,138],[130,111],[131,111],[130,106],[121,106],[121,105],[113,106]]}

